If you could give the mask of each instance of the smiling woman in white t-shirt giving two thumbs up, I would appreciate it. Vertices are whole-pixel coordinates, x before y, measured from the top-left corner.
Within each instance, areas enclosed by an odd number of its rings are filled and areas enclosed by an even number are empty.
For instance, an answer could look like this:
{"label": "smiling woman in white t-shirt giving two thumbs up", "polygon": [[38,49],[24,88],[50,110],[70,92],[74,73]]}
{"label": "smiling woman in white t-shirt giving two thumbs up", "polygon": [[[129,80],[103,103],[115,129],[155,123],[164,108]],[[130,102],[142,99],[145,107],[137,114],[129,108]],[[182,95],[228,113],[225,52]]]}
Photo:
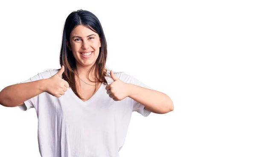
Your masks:
{"label": "smiling woman in white t-shirt giving two thumbs up", "polygon": [[78,10],[65,21],[61,69],[0,92],[3,106],[35,108],[42,157],[119,157],[133,111],[146,117],[173,110],[169,96],[131,75],[113,73],[105,68],[106,59],[98,18]]}

